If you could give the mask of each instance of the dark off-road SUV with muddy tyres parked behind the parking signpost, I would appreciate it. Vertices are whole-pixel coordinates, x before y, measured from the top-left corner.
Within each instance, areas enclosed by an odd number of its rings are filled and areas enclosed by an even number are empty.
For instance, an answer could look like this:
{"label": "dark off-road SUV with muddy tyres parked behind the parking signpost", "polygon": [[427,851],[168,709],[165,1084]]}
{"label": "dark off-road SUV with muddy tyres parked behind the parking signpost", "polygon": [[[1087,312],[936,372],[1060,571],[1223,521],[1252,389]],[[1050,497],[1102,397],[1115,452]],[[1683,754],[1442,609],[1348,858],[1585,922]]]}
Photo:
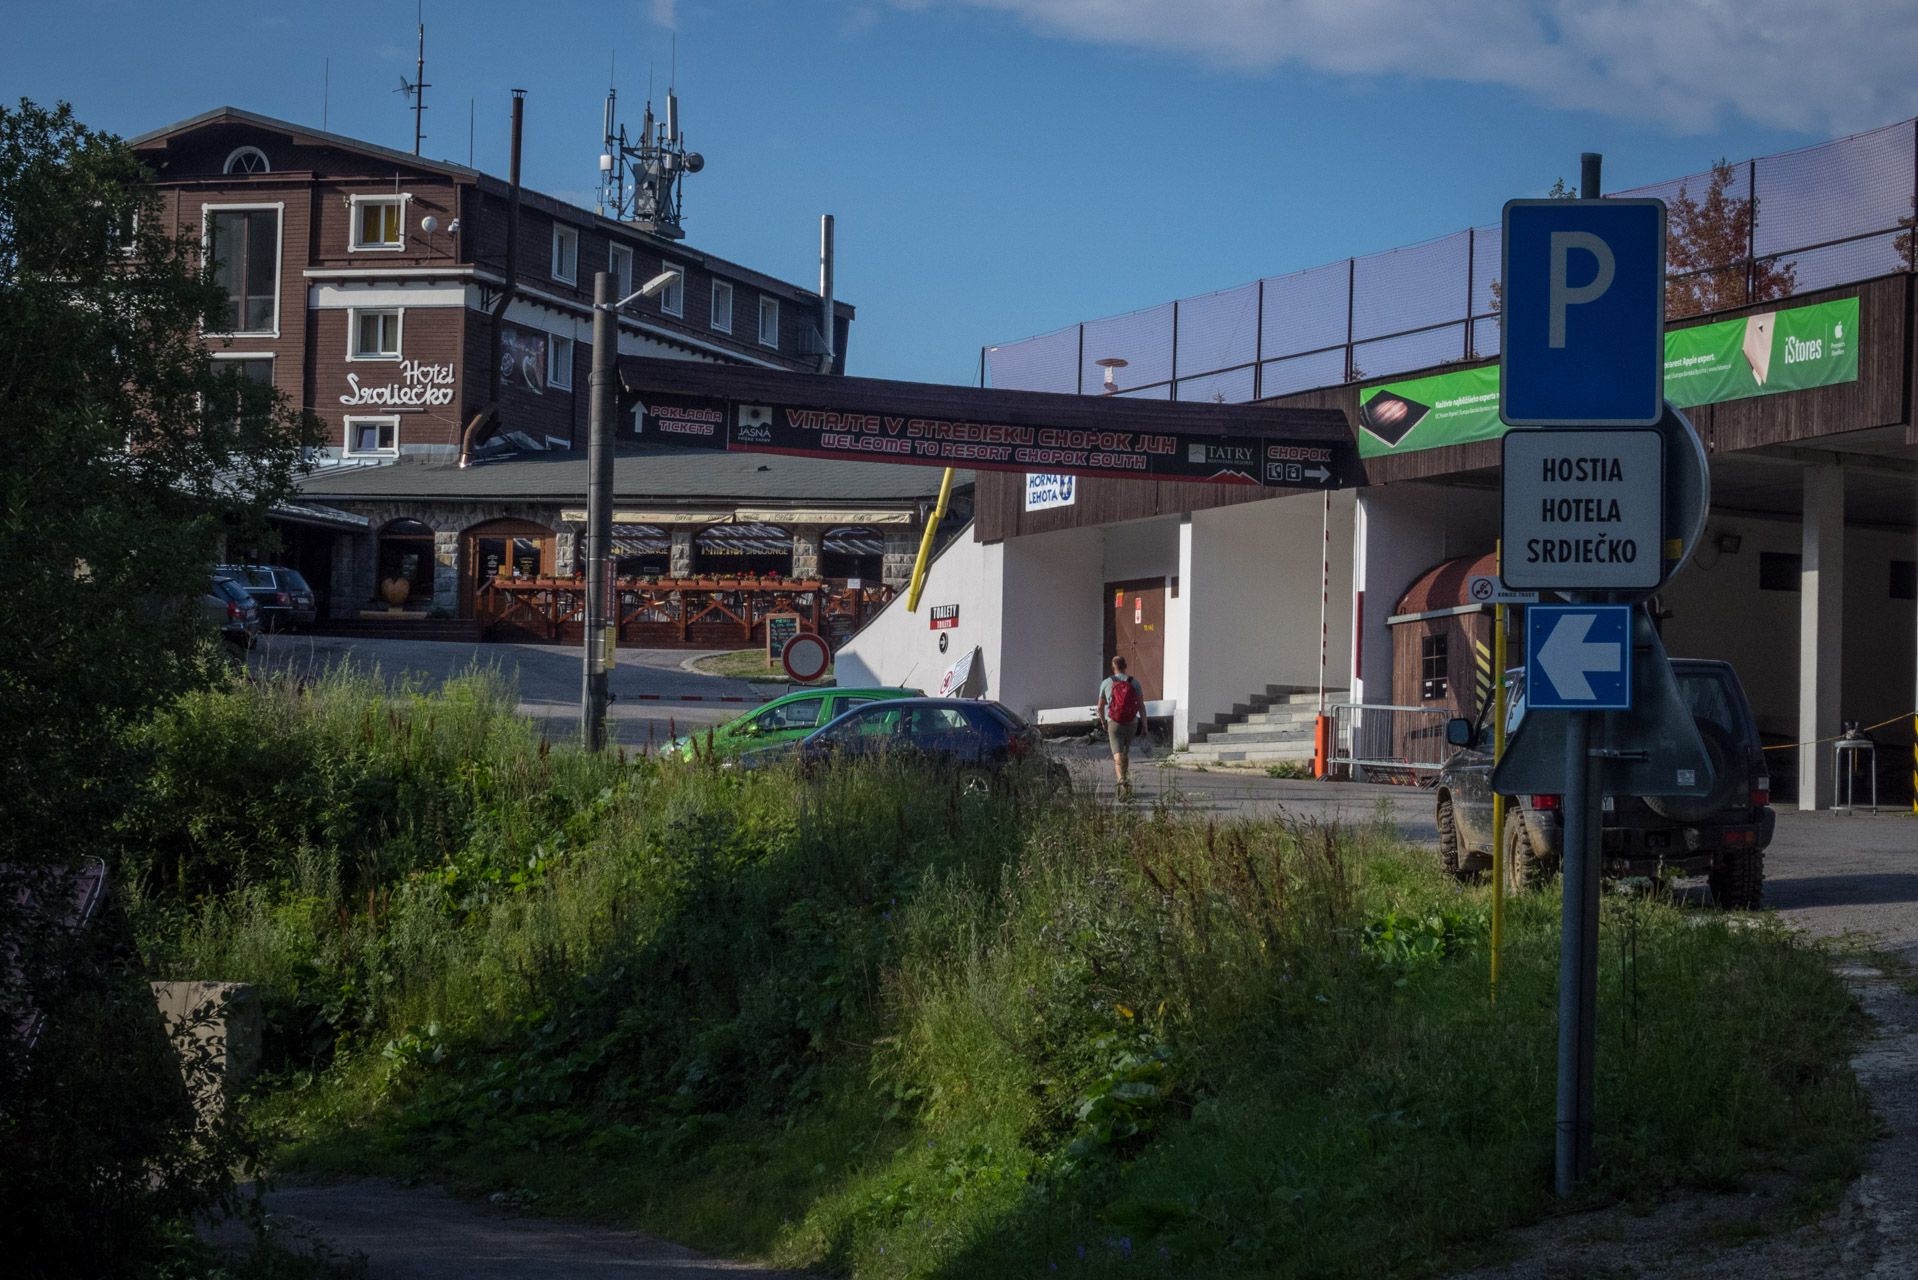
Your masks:
{"label": "dark off-road SUV with muddy tyres parked behind the parking signpost", "polygon": [[[1705,871],[1719,906],[1757,910],[1765,902],[1765,846],[1772,842],[1776,814],[1751,702],[1728,662],[1672,658],[1672,674],[1717,781],[1709,796],[1605,796],[1603,871],[1649,877]],[[1525,718],[1523,672],[1509,679],[1508,733]],[[1438,771],[1438,856],[1456,873],[1492,865],[1490,704],[1469,725],[1467,741]],[[1509,883],[1555,871],[1563,848],[1559,796],[1513,796],[1506,812]]]}

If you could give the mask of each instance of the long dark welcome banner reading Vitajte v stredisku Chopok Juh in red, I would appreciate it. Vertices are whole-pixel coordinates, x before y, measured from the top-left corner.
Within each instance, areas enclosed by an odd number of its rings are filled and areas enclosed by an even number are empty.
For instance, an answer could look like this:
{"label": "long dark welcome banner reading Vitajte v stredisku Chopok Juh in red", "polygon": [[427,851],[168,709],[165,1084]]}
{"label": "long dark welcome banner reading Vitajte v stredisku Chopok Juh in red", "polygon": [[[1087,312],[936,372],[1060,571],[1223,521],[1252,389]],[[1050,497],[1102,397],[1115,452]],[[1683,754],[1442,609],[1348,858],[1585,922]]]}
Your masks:
{"label": "long dark welcome banner reading Vitajte v stredisku Chopok Juh in red", "polygon": [[1333,441],[955,422],[704,395],[641,393],[637,403],[641,439],[685,449],[1291,489],[1352,480],[1341,459],[1350,445]]}

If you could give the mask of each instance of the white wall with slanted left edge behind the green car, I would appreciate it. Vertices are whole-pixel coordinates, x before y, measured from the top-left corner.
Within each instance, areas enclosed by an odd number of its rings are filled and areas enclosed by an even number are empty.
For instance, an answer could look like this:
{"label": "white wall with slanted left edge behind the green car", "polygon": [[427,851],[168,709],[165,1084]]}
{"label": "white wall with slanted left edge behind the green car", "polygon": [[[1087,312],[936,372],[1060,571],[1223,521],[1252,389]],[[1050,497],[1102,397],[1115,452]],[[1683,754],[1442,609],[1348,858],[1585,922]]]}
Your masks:
{"label": "white wall with slanted left edge behind the green car", "polygon": [[[834,656],[834,679],[854,685],[909,685],[936,693],[940,676],[959,654],[978,645],[986,662],[988,699],[1001,697],[1001,599],[1003,545],[972,541],[971,530],[961,530],[926,566],[926,587],[919,597],[919,612],[905,612],[905,595],[894,597],[844,649]],[[957,604],[959,626],[947,631],[930,628],[934,604]],[[940,652],[940,635],[947,637]]]}

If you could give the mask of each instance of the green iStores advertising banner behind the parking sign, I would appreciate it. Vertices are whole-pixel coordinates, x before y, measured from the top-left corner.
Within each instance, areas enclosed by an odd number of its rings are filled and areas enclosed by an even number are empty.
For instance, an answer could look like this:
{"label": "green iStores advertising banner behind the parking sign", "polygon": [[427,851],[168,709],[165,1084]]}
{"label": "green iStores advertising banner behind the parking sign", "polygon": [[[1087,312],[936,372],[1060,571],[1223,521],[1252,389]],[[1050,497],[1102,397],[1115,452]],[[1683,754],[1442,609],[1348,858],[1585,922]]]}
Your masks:
{"label": "green iStores advertising banner behind the parking sign", "polygon": [[[1665,399],[1680,409],[1857,380],[1857,297],[1665,334]],[[1371,388],[1358,426],[1362,459],[1498,439],[1498,365]]]}

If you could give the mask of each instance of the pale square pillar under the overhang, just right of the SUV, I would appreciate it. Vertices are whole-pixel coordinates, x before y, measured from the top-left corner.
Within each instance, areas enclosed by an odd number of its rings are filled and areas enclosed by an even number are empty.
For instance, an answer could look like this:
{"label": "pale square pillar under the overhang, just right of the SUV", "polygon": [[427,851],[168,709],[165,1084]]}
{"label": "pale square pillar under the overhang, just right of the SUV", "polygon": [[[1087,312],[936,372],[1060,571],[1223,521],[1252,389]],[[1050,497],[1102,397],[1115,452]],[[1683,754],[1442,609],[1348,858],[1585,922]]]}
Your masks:
{"label": "pale square pillar under the overhang, just right of the SUV", "polygon": [[1799,532],[1799,808],[1832,806],[1832,747],[1837,735],[1845,641],[1845,468],[1805,468]]}

